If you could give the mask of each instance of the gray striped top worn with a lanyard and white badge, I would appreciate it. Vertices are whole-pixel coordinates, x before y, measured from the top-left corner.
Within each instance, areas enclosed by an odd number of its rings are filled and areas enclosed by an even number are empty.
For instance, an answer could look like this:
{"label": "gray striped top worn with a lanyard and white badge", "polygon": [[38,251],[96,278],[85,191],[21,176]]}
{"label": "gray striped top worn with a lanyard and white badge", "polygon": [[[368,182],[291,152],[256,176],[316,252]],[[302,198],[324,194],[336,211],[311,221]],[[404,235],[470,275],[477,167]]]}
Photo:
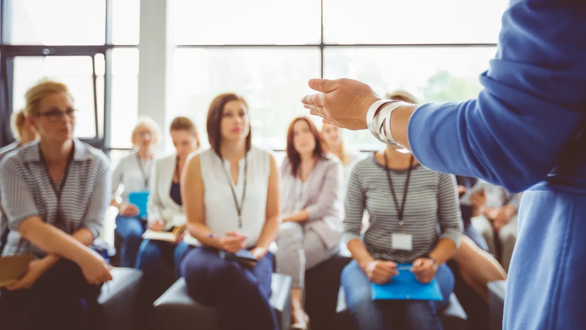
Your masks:
{"label": "gray striped top worn with a lanyard and white badge", "polygon": [[[390,171],[399,206],[407,171]],[[413,235],[411,251],[394,250],[391,235],[400,233],[398,216],[384,166],[374,156],[360,160],[350,174],[345,202],[343,239],[359,239],[375,259],[411,262],[431,252],[440,238],[459,245],[462,233],[455,177],[437,173],[421,165],[411,170],[403,216],[403,232]],[[364,208],[369,211],[369,227],[360,235]],[[440,233],[438,233],[438,227]]]}

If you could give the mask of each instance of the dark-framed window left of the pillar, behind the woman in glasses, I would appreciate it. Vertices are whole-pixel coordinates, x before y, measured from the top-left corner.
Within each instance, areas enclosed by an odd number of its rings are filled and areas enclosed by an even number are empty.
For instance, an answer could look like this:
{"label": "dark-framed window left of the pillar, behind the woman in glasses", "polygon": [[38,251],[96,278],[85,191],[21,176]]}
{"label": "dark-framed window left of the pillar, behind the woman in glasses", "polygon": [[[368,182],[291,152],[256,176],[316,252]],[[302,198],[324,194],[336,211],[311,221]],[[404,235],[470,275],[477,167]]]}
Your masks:
{"label": "dark-framed window left of the pillar, behind the woman in glasses", "polygon": [[119,141],[130,139],[128,123],[137,118],[139,6],[140,0],[0,0],[0,117],[24,106],[29,87],[53,79],[66,83],[80,110],[77,137],[128,147]]}

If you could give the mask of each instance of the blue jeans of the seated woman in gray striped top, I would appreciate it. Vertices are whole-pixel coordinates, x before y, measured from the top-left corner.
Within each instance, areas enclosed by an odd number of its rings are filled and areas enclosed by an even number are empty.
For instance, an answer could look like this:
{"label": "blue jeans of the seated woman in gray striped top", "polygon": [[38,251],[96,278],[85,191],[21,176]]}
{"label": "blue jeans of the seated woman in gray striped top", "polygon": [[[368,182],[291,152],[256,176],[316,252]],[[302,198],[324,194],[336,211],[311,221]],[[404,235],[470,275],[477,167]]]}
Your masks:
{"label": "blue jeans of the seated woman in gray striped top", "polygon": [[[448,303],[454,291],[454,275],[446,265],[438,268],[436,277],[444,295],[444,302],[373,300],[370,280],[355,260],[342,271],[342,287],[346,302],[359,330],[441,330],[438,307]],[[439,306],[438,306],[439,305]]]}

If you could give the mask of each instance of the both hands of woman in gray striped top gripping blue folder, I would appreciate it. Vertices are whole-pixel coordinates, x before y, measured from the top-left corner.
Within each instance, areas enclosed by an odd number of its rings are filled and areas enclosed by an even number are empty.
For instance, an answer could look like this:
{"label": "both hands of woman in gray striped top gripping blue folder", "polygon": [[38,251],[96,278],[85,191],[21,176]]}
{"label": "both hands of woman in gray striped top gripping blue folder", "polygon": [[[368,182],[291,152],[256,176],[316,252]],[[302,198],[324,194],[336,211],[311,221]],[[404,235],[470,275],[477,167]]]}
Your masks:
{"label": "both hands of woman in gray striped top gripping blue folder", "polygon": [[[427,284],[435,277],[437,266],[430,258],[417,258],[413,261],[411,272],[417,281]],[[385,284],[398,275],[397,264],[393,261],[373,260],[364,267],[364,273],[375,284]]]}

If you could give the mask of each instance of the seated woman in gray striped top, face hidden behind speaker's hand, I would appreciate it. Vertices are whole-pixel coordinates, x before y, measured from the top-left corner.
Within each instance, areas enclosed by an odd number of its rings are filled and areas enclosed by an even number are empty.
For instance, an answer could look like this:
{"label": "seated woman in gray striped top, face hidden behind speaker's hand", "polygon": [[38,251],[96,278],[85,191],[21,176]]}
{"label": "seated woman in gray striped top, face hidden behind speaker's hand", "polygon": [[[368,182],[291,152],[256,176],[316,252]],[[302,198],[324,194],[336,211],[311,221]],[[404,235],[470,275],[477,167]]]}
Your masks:
{"label": "seated woman in gray striped top, face hidden behind speaker's hand", "polygon": [[[370,219],[362,236],[364,208]],[[359,329],[441,329],[437,309],[454,290],[454,275],[444,262],[462,233],[454,176],[387,147],[352,170],[345,216],[343,238],[354,260],[342,272],[342,286]],[[437,277],[444,302],[373,301],[371,282],[384,284],[397,274],[397,263],[411,262],[418,281]]]}

